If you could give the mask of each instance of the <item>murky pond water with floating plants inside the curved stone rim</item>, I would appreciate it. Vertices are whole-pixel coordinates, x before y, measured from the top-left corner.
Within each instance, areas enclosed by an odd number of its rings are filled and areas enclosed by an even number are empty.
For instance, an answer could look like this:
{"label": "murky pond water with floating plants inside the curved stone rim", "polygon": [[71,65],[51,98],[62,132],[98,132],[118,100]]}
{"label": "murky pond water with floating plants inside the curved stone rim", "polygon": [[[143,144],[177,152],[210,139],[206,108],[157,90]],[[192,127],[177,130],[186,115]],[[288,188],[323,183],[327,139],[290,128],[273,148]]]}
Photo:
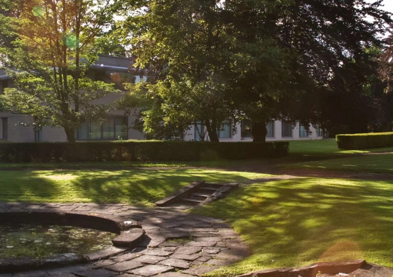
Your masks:
{"label": "murky pond water with floating plants inside the curved stone rim", "polygon": [[112,246],[116,234],[72,226],[0,225],[0,259],[87,254]]}

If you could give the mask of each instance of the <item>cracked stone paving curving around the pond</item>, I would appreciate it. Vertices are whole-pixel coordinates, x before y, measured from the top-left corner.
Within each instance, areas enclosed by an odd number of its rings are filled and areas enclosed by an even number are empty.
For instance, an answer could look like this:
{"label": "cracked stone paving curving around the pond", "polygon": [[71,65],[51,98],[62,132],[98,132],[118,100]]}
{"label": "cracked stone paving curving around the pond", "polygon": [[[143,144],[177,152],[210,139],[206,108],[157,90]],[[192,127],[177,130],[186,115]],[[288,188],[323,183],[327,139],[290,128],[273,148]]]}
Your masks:
{"label": "cracked stone paving curving around the pond", "polygon": [[138,221],[146,234],[135,249],[107,259],[64,268],[0,273],[0,277],[191,277],[249,255],[248,244],[227,223],[216,218],[186,214],[176,208],[144,209],[122,204],[0,203],[0,212],[11,211],[88,212],[120,216],[124,220]]}

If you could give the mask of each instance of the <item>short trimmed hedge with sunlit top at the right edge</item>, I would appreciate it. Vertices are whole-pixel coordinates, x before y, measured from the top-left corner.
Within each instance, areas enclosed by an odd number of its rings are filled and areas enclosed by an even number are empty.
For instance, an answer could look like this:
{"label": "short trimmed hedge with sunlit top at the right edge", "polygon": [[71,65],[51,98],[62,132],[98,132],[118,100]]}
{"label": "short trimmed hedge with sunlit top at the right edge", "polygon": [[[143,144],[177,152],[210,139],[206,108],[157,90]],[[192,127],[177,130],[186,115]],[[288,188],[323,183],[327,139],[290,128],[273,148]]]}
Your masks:
{"label": "short trimmed hedge with sunlit top at the right edge", "polygon": [[336,135],[338,148],[345,150],[393,146],[393,133]]}

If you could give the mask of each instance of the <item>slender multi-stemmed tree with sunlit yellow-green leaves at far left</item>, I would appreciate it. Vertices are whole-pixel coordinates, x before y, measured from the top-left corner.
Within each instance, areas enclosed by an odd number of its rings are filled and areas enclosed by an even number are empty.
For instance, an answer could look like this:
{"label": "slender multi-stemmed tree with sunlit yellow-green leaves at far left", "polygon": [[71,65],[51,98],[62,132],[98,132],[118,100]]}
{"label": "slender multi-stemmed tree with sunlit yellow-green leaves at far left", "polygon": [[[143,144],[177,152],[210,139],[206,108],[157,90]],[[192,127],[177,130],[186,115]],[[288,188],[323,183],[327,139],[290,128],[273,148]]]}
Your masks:
{"label": "slender multi-stemmed tree with sunlit yellow-green leaves at far left", "polygon": [[[7,0],[0,0],[6,6]],[[92,100],[115,92],[88,78],[97,59],[97,36],[113,21],[110,0],[29,0],[0,15],[0,32],[12,38],[0,48],[15,88],[0,96],[3,109],[33,116],[33,124],[63,127],[69,142],[86,120],[103,120],[110,107]]]}

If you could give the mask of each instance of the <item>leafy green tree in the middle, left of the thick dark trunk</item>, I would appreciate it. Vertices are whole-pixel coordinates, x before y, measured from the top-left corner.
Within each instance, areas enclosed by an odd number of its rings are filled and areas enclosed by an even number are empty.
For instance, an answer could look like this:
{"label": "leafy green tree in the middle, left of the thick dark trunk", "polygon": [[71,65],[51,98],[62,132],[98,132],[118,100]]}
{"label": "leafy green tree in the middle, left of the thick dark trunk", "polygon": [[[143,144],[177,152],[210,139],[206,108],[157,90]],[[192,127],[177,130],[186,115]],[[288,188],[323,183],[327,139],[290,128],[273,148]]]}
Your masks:
{"label": "leafy green tree in the middle, left of the thick dark trunk", "polygon": [[[271,83],[278,83],[280,75],[281,81],[286,78],[286,53],[263,33],[263,26],[258,28],[254,41],[247,37],[247,29],[235,26],[253,18],[237,15],[239,10],[246,13],[242,4],[247,1],[234,6],[196,0],[129,2],[131,9],[141,11],[128,17],[124,26],[132,37],[135,65],[149,76],[149,85],[143,87],[145,92],[131,92],[136,98],[141,97],[141,102],[151,102],[140,110],[145,130],[157,126],[148,118],[155,111],[154,114],[162,114],[164,125],[202,124],[209,139],[219,141],[217,131],[222,122],[231,119],[235,123],[244,116],[240,107],[245,99],[238,101],[238,89],[250,81],[247,78],[264,78],[259,83],[264,89],[260,93],[269,100],[277,98],[277,86],[266,90]],[[269,1],[252,2],[257,10]],[[254,23],[246,24],[250,27]],[[254,90],[258,89],[262,90]],[[259,99],[255,102],[255,107],[261,107]],[[127,105],[124,101],[123,104]]]}

